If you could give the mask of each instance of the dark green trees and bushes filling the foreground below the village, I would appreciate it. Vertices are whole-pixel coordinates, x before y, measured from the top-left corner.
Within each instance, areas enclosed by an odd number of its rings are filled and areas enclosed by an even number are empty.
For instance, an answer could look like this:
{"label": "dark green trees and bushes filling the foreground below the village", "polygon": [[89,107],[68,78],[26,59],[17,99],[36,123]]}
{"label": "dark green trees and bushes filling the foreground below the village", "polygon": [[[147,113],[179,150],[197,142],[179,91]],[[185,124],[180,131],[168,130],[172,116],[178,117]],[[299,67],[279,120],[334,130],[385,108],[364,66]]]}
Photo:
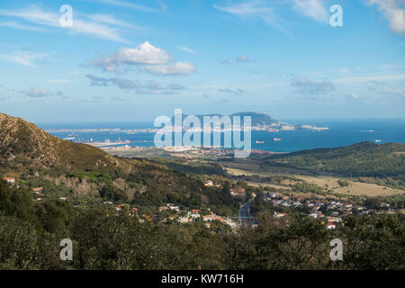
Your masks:
{"label": "dark green trees and bushes filling the foreground below the village", "polygon": [[[229,232],[220,223],[140,223],[102,205],[73,207],[0,182],[1,269],[404,269],[400,216],[349,217],[336,230],[300,215],[288,221],[259,214],[256,229]],[[345,244],[329,259],[329,241]],[[73,260],[59,242],[73,241]]]}

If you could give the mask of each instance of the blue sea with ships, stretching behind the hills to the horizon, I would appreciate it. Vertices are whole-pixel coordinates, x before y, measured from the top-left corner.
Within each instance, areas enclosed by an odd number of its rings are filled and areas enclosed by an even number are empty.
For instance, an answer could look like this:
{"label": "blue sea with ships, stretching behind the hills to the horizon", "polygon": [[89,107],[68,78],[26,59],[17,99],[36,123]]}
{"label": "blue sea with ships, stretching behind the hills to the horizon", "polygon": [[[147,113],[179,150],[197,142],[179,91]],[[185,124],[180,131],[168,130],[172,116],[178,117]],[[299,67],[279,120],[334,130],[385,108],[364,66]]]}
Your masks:
{"label": "blue sea with ships, stretching behind the hills to the horizon", "polygon": [[[405,118],[361,120],[284,119],[281,121],[291,124],[329,127],[329,130],[280,130],[279,132],[253,130],[251,134],[252,149],[293,152],[312,148],[337,148],[363,141],[376,144],[405,143]],[[128,143],[110,145],[110,147],[122,145],[155,147],[155,133],[153,132],[128,133],[121,131],[154,128],[153,122],[41,123],[39,127],[48,130],[50,134],[58,138],[70,138],[76,142],[87,142],[90,139],[96,142],[107,139],[111,142],[127,140]],[[76,131],[72,132],[71,130]],[[263,143],[257,143],[256,141]]]}

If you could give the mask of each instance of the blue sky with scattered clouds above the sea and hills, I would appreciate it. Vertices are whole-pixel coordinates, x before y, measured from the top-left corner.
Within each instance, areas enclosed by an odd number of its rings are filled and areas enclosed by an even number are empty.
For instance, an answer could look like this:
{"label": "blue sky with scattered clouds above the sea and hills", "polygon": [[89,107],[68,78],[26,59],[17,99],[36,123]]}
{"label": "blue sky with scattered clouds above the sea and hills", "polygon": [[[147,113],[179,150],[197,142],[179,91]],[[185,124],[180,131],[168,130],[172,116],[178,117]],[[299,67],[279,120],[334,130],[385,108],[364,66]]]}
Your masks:
{"label": "blue sky with scattered clouds above the sea and hills", "polygon": [[2,1],[0,36],[28,121],[405,118],[405,0]]}

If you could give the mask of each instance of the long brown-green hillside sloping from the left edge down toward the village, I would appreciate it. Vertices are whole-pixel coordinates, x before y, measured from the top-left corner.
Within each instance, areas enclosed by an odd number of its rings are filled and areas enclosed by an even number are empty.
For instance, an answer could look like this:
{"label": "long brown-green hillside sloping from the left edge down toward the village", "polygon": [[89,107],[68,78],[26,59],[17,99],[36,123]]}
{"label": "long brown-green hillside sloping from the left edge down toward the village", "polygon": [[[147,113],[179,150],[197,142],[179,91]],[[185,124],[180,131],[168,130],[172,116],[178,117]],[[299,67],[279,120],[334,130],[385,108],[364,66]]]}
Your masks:
{"label": "long brown-green hillside sloping from the left edge down toward the village", "polygon": [[101,196],[154,207],[207,204],[227,211],[235,204],[229,191],[213,190],[165,165],[58,139],[22,118],[0,114],[0,125],[0,176],[12,175],[28,188],[44,187],[45,195]]}

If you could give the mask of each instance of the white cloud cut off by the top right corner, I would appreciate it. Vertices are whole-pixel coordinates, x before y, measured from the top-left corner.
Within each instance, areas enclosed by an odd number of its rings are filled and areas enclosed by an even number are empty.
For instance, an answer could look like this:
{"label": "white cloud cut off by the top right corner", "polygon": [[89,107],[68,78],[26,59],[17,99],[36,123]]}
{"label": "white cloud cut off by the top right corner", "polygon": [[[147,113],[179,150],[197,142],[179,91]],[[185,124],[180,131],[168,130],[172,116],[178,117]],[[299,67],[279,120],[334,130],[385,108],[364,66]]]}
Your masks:
{"label": "white cloud cut off by the top right corner", "polygon": [[392,31],[405,36],[405,10],[403,0],[369,0],[369,4],[376,4],[390,23]]}

